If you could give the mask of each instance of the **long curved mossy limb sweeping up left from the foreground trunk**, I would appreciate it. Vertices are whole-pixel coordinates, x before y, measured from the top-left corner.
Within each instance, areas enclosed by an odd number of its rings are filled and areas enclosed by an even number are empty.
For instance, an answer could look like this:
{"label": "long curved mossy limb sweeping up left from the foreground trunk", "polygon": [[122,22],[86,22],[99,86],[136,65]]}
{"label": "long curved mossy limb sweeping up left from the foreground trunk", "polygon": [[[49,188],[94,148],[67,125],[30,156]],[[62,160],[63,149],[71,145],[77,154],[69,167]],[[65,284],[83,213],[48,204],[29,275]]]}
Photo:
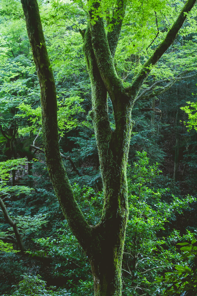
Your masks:
{"label": "long curved mossy limb sweeping up left from the foreground trunk", "polygon": [[43,144],[49,175],[69,226],[84,250],[87,251],[92,229],[76,203],[61,160],[55,81],[46,49],[38,3],[36,0],[21,0],[21,2],[40,83]]}

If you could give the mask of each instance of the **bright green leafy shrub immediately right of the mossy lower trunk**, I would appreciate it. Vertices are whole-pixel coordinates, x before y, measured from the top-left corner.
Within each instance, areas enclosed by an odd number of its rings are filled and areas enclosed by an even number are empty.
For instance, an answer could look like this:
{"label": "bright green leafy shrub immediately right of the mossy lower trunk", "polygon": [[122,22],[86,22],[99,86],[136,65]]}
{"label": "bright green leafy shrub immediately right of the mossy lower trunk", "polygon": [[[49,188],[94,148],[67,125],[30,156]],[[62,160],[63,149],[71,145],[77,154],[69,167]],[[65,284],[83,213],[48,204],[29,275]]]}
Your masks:
{"label": "bright green leafy shrub immediately right of the mossy lower trunk", "polygon": [[[123,260],[123,295],[138,295],[139,291],[132,292],[130,286],[136,287],[140,282],[140,288],[148,296],[157,289],[157,285],[152,284],[157,273],[172,267],[173,262],[183,260],[173,245],[173,241],[182,239],[179,232],[174,230],[167,236],[164,233],[167,223],[171,223],[177,213],[189,208],[195,199],[189,196],[179,199],[172,195],[170,203],[164,202],[170,189],[152,187],[154,179],[161,173],[158,163],[149,165],[146,152],[138,152],[137,156],[138,161],[128,170],[130,206]],[[190,233],[186,237],[189,236]]]}

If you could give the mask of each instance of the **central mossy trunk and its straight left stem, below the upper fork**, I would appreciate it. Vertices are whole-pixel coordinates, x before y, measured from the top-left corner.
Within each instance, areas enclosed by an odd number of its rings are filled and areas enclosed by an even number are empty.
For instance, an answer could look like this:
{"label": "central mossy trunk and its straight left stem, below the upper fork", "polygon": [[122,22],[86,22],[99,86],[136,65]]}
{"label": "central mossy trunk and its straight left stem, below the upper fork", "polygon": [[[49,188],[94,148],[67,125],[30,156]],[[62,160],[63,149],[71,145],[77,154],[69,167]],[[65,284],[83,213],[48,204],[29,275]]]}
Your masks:
{"label": "central mossy trunk and its straight left stem, below the upper fork", "polygon": [[[114,116],[118,125],[113,132],[108,119],[107,91],[97,67],[89,27],[84,35],[84,55],[92,86],[90,115],[94,123],[104,190],[103,213],[97,226],[100,249],[96,249],[90,259],[94,291],[95,296],[119,296],[128,219],[126,164],[132,127],[131,108],[122,106],[122,98],[117,98]],[[121,118],[118,118],[119,112],[123,114]]]}

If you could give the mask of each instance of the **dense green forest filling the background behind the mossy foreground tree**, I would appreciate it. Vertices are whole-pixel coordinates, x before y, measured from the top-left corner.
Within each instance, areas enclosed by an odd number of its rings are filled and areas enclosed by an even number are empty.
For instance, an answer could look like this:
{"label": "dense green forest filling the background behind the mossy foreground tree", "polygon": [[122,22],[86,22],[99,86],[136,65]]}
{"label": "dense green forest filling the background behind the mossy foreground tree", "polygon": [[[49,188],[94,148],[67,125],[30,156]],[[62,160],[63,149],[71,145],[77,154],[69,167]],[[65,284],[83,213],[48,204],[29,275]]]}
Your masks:
{"label": "dense green forest filling the background behind the mossy foreground tree", "polygon": [[[116,71],[125,85],[183,6],[183,1],[132,3],[115,53]],[[103,192],[79,32],[86,27],[86,2],[38,4],[56,81],[61,156],[75,198],[88,223],[95,225]],[[196,21],[194,7],[133,108],[123,296],[197,295]],[[0,293],[92,296],[89,261],[48,176],[40,87],[17,0],[0,2],[0,52]],[[110,99],[108,106],[113,129]]]}

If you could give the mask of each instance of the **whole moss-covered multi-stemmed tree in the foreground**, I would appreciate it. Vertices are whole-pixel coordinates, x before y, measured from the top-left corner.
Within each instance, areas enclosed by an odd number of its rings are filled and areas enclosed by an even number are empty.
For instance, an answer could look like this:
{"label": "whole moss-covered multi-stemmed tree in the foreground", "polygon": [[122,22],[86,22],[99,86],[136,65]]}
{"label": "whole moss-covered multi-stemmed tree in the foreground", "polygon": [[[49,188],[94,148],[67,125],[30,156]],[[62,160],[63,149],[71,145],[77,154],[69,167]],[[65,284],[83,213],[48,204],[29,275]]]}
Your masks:
{"label": "whole moss-covered multi-stemmed tree in the foreground", "polygon": [[[92,86],[92,111],[104,206],[100,222],[91,226],[84,218],[61,161],[58,143],[57,102],[53,72],[46,49],[36,0],[21,0],[27,33],[38,73],[41,91],[43,142],[46,163],[56,195],[77,240],[90,260],[95,296],[121,295],[121,263],[128,219],[126,165],[133,121],[131,111],[152,66],[174,41],[195,0],[188,0],[166,37],[144,63],[130,86],[118,77],[114,56],[126,1],[117,0],[106,34],[100,1],[87,2],[87,27],[80,30],[84,56]],[[107,97],[113,104],[115,131],[110,128]]]}

